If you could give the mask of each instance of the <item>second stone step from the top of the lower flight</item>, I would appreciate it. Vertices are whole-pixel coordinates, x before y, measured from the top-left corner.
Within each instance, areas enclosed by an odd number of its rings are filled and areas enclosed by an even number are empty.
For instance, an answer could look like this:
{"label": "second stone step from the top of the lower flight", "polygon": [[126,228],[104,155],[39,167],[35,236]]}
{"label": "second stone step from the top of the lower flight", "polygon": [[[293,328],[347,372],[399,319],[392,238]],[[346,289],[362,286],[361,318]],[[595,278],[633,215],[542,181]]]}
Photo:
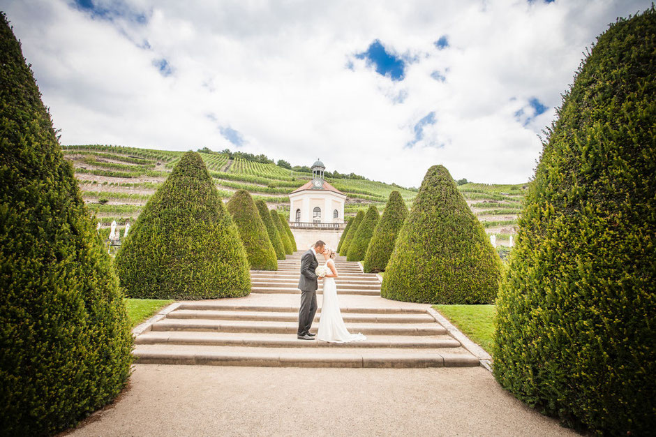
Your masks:
{"label": "second stone step from the top of the lower flight", "polygon": [[[320,314],[315,316],[320,320]],[[218,320],[253,320],[253,321],[275,321],[295,322],[299,318],[298,311],[221,311],[221,310],[198,310],[177,309],[168,313],[167,318],[184,319],[218,319]],[[345,322],[354,323],[435,323],[435,318],[428,313],[424,314],[364,314],[344,313],[342,317]]]}

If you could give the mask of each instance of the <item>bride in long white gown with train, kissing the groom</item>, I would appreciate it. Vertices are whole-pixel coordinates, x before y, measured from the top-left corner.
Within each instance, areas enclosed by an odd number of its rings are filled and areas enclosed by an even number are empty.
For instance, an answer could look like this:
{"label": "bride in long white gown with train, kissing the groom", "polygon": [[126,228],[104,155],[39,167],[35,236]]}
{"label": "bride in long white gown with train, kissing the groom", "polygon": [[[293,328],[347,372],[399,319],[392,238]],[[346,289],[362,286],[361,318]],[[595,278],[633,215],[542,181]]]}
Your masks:
{"label": "bride in long white gown with train, kissing the groom", "polygon": [[325,265],[330,270],[331,274],[324,276],[323,280],[323,299],[317,339],[329,341],[331,343],[364,341],[366,340],[366,336],[360,333],[350,334],[348,332],[346,325],[344,325],[342,313],[339,311],[337,287],[335,285],[335,278],[338,277],[337,269],[335,268],[335,257],[337,256],[337,253],[332,249],[326,248],[323,255],[326,259]]}

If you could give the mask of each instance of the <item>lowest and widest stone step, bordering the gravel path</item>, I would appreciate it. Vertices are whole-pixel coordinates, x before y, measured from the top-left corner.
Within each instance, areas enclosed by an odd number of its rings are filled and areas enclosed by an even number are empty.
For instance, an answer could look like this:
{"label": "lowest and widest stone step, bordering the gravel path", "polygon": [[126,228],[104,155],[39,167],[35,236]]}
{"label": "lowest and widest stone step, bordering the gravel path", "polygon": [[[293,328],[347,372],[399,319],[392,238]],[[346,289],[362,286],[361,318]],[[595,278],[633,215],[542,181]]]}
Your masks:
{"label": "lowest and widest stone step, bordering the gravel path", "polygon": [[478,366],[476,357],[453,348],[248,348],[233,346],[140,345],[139,364],[296,367]]}

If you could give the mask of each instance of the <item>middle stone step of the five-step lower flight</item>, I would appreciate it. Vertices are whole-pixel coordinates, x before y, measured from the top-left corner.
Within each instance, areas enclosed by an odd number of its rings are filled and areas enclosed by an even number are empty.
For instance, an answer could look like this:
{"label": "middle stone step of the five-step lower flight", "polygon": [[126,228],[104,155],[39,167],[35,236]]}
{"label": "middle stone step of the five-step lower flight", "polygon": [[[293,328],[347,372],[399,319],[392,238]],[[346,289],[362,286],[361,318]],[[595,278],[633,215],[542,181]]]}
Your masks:
{"label": "middle stone step of the five-step lower flight", "polygon": [[[447,330],[437,323],[346,323],[349,332],[365,335],[442,335]],[[296,322],[271,322],[253,320],[211,320],[165,318],[152,325],[153,331],[197,332],[264,332],[269,334],[295,334]]]}

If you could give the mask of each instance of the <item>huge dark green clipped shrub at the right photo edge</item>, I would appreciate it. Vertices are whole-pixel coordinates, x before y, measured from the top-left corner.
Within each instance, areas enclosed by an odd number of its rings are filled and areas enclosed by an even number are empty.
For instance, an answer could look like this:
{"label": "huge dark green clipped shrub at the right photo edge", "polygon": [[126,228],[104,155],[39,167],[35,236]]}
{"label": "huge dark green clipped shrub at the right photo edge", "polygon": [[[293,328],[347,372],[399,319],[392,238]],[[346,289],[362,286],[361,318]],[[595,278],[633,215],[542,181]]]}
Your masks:
{"label": "huge dark green clipped shrub at the right photo edge", "polygon": [[653,434],[656,10],[597,38],[563,97],[498,298],[494,374],[592,434]]}

